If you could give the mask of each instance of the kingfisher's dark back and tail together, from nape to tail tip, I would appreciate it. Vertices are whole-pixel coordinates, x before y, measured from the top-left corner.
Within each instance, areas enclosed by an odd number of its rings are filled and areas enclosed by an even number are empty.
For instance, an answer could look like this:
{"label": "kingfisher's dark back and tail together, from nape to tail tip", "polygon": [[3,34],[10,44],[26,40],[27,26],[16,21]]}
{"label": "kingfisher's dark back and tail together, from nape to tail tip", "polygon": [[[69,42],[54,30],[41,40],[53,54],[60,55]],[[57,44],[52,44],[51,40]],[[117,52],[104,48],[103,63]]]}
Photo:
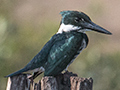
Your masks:
{"label": "kingfisher's dark back and tail together, from nape to tail tip", "polygon": [[40,68],[41,66],[44,66],[45,62],[47,61],[47,56],[49,54],[49,51],[51,47],[53,46],[55,42],[55,37],[57,34],[55,34],[41,49],[41,51],[21,70],[16,71],[12,74],[9,74],[5,77],[11,77],[18,74],[21,74],[22,72],[32,71],[36,68]]}

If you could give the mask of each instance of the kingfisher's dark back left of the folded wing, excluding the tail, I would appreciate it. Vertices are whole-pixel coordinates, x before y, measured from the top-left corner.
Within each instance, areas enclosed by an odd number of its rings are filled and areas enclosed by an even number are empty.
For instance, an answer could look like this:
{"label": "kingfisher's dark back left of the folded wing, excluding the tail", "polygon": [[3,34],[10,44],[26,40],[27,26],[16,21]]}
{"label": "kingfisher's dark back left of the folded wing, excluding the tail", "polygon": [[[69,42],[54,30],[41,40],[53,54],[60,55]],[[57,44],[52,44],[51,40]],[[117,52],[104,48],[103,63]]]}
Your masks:
{"label": "kingfisher's dark back left of the folded wing, excluding the tail", "polygon": [[41,51],[26,65],[25,68],[31,70],[40,68],[41,66],[44,67],[45,63],[47,62],[49,52],[56,42],[57,37],[59,37],[59,34],[53,35],[52,38],[44,45]]}

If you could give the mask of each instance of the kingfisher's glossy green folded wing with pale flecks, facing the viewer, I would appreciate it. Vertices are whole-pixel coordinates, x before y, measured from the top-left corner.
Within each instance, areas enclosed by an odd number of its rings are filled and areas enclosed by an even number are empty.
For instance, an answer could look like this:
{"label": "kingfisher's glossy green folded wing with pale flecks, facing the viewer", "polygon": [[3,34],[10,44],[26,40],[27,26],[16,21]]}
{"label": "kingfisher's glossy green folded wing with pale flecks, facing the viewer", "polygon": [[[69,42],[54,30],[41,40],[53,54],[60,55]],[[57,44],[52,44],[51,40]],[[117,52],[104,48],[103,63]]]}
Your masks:
{"label": "kingfisher's glossy green folded wing with pale flecks, facing the viewer", "polygon": [[61,35],[61,37],[64,39],[56,41],[50,50],[45,67],[45,76],[55,76],[62,72],[71,60],[74,59],[74,56],[77,54],[76,51],[82,42],[82,36],[79,38],[75,36],[67,38]]}

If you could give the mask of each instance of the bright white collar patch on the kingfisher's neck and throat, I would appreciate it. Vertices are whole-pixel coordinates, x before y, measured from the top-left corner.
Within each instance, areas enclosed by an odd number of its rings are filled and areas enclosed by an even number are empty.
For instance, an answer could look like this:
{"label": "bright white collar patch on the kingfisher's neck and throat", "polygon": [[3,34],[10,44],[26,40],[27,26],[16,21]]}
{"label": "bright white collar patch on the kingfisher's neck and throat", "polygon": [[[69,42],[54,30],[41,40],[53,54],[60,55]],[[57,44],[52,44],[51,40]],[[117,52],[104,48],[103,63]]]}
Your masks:
{"label": "bright white collar patch on the kingfisher's neck and throat", "polygon": [[60,25],[60,28],[58,30],[57,33],[62,33],[62,32],[70,32],[70,31],[73,31],[73,30],[78,30],[80,29],[81,27],[78,27],[78,26],[74,26],[74,25],[65,25],[64,23],[62,23]]}

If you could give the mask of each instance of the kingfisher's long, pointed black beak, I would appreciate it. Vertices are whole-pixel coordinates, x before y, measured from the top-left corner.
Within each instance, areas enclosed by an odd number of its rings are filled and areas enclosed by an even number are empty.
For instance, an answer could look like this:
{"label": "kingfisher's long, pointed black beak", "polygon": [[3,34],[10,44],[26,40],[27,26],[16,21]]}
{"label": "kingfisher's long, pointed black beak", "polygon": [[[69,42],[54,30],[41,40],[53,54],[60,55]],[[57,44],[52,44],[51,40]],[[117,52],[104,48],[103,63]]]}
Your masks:
{"label": "kingfisher's long, pointed black beak", "polygon": [[91,30],[93,30],[93,31],[97,31],[97,32],[100,32],[100,33],[112,35],[111,32],[109,32],[109,31],[107,31],[106,29],[100,27],[99,25],[96,25],[96,24],[93,23],[92,21],[90,21],[89,23],[86,23],[85,28],[91,29]]}

